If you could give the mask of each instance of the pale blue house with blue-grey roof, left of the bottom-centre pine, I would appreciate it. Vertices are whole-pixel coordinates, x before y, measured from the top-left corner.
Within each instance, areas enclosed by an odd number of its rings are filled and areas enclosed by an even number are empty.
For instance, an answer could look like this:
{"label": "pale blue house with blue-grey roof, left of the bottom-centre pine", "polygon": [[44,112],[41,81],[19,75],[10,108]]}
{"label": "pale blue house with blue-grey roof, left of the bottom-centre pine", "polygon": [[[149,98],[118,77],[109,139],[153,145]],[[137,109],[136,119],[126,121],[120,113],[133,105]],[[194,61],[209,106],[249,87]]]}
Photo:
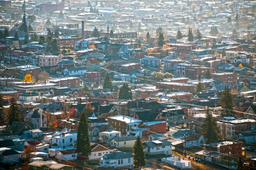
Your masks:
{"label": "pale blue house with blue-grey roof, left of the bottom-centre pine", "polygon": [[131,152],[113,152],[105,154],[100,158],[100,166],[109,168],[118,168],[122,166],[130,166],[133,168],[133,154]]}

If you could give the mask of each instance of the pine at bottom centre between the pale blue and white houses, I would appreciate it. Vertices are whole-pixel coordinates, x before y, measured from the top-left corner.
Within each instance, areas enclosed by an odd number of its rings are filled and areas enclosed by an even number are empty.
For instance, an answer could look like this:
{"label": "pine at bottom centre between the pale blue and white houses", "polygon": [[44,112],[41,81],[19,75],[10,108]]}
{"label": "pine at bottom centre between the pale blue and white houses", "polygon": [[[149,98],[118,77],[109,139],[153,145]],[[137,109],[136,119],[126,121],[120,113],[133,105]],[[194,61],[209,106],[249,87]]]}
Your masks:
{"label": "pine at bottom centre between the pale blue and white houses", "polygon": [[142,142],[140,140],[140,137],[138,136],[136,139],[136,143],[133,146],[134,149],[134,158],[133,158],[133,162],[135,166],[145,166],[146,165],[146,161],[145,161],[145,152],[143,150],[143,145]]}

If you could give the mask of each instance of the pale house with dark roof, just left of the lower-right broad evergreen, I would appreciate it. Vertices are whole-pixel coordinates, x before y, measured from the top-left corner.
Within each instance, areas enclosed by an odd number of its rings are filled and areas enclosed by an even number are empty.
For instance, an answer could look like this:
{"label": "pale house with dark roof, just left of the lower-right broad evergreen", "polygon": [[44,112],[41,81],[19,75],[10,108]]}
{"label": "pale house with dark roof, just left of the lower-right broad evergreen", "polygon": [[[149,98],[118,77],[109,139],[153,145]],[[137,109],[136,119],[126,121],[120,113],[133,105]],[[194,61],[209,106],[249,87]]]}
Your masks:
{"label": "pale house with dark roof, just left of the lower-right broad evergreen", "polygon": [[[197,147],[205,144],[205,138],[201,134],[191,133],[186,141],[186,147]],[[184,146],[185,147],[185,146]]]}

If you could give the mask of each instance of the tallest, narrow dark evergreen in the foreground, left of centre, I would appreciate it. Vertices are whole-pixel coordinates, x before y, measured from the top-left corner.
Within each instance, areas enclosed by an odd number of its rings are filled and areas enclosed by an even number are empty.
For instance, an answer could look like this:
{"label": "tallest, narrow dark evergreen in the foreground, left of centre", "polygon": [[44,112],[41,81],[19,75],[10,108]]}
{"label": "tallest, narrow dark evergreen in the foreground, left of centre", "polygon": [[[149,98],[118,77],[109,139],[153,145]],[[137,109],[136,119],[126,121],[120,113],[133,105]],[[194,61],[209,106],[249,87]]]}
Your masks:
{"label": "tallest, narrow dark evergreen in the foreground, left of centre", "polygon": [[88,122],[85,113],[83,112],[79,118],[77,126],[76,150],[82,152],[84,156],[91,153],[90,138],[88,132]]}

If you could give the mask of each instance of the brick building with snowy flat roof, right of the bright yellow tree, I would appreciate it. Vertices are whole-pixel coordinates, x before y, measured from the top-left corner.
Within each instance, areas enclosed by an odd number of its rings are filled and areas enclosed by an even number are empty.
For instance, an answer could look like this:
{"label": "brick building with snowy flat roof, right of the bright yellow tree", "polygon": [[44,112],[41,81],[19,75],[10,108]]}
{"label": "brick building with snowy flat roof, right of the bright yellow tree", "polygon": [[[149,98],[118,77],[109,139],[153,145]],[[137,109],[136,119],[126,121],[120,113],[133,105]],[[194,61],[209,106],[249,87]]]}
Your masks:
{"label": "brick building with snowy flat roof, right of the bright yellow tree", "polygon": [[80,86],[80,78],[78,77],[54,78],[48,81],[50,83],[55,83],[60,87],[79,87]]}

